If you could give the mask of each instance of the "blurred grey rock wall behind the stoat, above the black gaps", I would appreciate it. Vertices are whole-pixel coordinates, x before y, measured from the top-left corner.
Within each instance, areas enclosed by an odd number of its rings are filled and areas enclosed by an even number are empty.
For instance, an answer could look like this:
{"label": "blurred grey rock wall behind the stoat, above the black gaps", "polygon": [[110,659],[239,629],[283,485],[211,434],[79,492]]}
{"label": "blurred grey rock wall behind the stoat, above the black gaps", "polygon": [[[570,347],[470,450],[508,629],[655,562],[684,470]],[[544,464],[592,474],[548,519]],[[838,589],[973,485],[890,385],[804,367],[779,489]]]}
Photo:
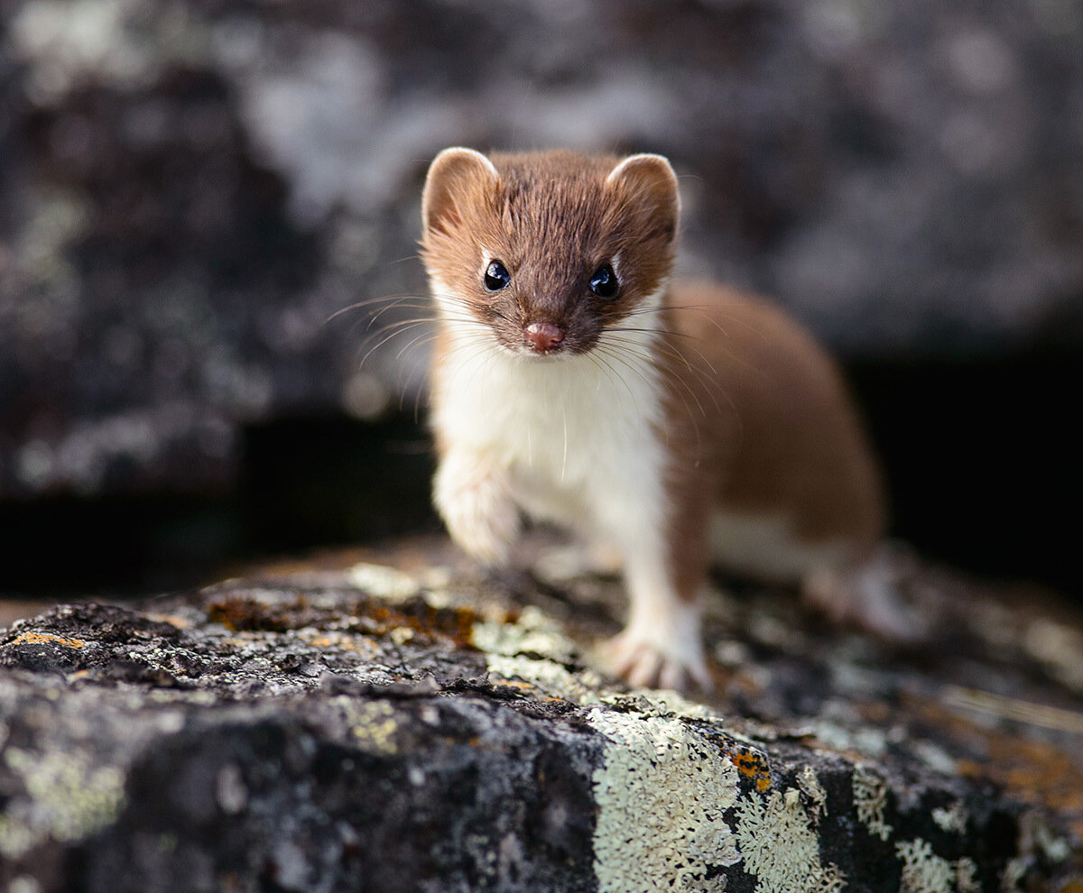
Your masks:
{"label": "blurred grey rock wall behind the stoat, above the black gaps", "polygon": [[[0,3],[0,498],[233,480],[423,337],[443,146],[668,154],[682,267],[849,356],[1083,338],[1071,2]],[[401,262],[407,261],[407,262]],[[381,334],[399,333],[364,366]]]}

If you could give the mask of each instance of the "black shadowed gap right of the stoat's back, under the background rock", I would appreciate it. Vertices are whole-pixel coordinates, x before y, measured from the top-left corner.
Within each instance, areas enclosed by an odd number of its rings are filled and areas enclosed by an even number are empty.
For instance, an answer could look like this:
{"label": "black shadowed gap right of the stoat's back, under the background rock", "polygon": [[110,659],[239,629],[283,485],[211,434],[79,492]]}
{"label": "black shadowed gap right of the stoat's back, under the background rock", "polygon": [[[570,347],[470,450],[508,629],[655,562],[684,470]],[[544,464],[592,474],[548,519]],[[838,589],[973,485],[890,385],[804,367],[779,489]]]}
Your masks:
{"label": "black shadowed gap right of the stoat's back, under the background rock", "polygon": [[893,531],[922,553],[1079,597],[1083,357],[866,363],[847,369],[891,486]]}

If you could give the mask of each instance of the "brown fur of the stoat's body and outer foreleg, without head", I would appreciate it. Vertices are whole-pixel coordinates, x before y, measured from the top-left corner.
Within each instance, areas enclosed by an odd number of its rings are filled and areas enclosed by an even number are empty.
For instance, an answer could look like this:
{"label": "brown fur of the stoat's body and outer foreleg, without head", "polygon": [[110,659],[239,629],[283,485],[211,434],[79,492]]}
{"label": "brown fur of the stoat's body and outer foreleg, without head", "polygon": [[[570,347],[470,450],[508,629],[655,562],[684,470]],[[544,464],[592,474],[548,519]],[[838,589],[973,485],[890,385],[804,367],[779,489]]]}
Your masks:
{"label": "brown fur of the stoat's body and outer foreleg, without head", "polygon": [[[781,310],[706,283],[667,296],[673,573],[694,597],[716,505],[787,520],[809,546],[860,559],[884,535],[877,463],[831,357]],[[794,580],[793,582],[797,582]]]}

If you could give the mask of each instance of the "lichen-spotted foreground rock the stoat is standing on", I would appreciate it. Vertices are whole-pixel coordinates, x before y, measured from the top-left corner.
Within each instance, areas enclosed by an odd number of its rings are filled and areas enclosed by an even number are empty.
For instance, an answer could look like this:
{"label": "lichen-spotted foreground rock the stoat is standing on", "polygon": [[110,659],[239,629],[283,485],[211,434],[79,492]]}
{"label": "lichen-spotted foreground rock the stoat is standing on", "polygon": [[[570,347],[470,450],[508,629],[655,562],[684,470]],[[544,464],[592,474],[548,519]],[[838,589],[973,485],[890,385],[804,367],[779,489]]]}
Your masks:
{"label": "lichen-spotted foreground rock the stoat is standing on", "polygon": [[[718,691],[591,665],[614,581],[438,541],[0,633],[9,891],[1083,883],[1083,625],[923,568],[892,654],[712,601]],[[379,563],[377,563],[379,562]]]}

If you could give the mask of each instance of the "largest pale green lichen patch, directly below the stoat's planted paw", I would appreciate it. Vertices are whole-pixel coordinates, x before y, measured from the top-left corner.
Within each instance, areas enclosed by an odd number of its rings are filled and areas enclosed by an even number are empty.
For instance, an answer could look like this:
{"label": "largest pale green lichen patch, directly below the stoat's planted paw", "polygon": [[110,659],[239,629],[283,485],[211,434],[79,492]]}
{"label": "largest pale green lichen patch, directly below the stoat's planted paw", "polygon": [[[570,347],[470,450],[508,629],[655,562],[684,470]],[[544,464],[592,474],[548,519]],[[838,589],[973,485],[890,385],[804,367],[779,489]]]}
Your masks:
{"label": "largest pale green lichen patch, directly below the stoat's planted paw", "polygon": [[591,778],[599,890],[725,889],[709,875],[741,859],[722,817],[738,799],[733,763],[675,719],[593,709],[590,724],[611,741]]}

